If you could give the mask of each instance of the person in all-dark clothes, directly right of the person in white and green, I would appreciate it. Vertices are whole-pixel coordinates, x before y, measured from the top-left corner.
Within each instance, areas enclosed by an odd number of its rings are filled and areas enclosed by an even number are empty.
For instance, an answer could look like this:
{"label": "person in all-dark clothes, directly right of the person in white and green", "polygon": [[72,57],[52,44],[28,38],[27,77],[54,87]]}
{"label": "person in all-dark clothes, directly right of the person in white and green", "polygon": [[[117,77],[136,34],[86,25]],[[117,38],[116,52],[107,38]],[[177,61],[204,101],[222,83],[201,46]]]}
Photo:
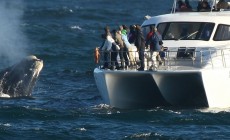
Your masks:
{"label": "person in all-dark clothes, directly right of the person in white and green", "polygon": [[141,26],[136,25],[136,40],[135,40],[135,46],[137,47],[137,51],[139,53],[139,59],[140,59],[140,67],[137,69],[139,71],[143,71],[145,68],[144,63],[144,52],[145,52],[145,38],[141,31]]}

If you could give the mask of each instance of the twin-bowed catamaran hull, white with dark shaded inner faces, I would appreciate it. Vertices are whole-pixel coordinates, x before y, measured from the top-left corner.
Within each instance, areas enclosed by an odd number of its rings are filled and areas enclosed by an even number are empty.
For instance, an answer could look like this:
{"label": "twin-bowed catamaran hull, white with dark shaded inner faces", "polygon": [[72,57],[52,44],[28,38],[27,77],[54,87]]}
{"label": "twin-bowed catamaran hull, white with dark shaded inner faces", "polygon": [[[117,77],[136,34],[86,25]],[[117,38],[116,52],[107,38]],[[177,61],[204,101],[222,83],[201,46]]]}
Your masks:
{"label": "twin-bowed catamaran hull, white with dark shaded inner faces", "polygon": [[[103,100],[117,108],[229,107],[229,70],[221,70],[221,75],[218,73],[219,70],[94,70]],[[213,79],[212,75],[217,76]]]}

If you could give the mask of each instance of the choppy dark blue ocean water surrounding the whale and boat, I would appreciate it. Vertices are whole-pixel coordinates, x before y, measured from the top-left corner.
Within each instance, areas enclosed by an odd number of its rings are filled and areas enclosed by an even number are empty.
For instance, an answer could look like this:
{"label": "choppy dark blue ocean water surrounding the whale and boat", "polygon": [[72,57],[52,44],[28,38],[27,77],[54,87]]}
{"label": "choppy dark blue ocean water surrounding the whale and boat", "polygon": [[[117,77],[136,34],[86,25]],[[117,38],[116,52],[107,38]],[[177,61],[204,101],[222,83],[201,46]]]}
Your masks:
{"label": "choppy dark blue ocean water surrounding the whale and boat", "polygon": [[1,69],[44,61],[32,99],[0,99],[0,139],[229,139],[230,108],[121,110],[103,103],[93,49],[109,25],[169,13],[172,0],[1,0]]}

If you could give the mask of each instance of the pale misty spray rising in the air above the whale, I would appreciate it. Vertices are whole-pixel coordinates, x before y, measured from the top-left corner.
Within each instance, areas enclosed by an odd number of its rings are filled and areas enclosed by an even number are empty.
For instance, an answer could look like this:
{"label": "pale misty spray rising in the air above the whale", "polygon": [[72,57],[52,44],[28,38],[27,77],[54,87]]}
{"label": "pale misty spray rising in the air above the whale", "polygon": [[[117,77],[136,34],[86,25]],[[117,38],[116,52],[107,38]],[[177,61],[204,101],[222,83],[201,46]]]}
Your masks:
{"label": "pale misty spray rising in the air above the whale", "polygon": [[26,37],[21,30],[22,0],[0,1],[0,68],[9,66],[26,55]]}

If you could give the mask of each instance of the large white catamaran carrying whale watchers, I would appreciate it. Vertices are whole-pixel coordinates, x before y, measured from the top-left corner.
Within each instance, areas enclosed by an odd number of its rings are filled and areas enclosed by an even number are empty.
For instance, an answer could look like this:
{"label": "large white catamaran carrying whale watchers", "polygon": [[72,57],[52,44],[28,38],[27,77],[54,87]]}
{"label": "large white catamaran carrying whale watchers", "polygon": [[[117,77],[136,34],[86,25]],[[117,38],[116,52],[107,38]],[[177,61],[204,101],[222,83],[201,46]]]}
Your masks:
{"label": "large white catamaran carrying whale watchers", "polygon": [[148,17],[141,25],[145,35],[151,25],[162,34],[166,56],[157,70],[94,69],[106,104],[123,109],[230,107],[230,11],[216,0],[208,0],[211,10],[204,11],[197,11],[198,1],[185,0],[193,9],[181,10],[178,1],[170,14]]}

